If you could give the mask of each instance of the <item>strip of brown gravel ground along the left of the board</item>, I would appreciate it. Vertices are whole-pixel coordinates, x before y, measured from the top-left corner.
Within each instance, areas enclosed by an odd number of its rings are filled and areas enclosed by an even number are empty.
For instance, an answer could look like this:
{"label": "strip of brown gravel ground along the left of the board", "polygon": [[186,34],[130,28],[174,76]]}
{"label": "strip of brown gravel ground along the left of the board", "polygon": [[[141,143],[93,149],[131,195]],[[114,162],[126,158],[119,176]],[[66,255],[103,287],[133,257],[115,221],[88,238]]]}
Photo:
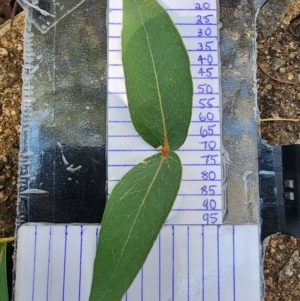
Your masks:
{"label": "strip of brown gravel ground along the left of the board", "polygon": [[8,31],[0,28],[0,237],[15,232],[24,15],[18,19]]}

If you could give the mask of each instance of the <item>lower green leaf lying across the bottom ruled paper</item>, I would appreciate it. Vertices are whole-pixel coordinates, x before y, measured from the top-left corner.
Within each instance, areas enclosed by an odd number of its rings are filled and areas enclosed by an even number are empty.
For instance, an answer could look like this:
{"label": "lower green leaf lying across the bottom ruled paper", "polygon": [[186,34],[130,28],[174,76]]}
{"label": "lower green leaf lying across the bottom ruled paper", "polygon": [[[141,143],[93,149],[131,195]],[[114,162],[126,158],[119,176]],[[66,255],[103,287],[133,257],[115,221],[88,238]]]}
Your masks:
{"label": "lower green leaf lying across the bottom ruled paper", "polygon": [[106,205],[90,301],[119,301],[145,262],[177,196],[182,175],[175,153],[131,169]]}

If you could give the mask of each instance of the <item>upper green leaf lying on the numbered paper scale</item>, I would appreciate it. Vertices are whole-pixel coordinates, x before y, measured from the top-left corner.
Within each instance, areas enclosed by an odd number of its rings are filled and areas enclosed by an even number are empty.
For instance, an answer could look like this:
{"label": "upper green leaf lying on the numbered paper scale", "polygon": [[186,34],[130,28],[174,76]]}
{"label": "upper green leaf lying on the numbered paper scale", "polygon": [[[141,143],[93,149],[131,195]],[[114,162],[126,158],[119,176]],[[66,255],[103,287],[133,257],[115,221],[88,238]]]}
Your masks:
{"label": "upper green leaf lying on the numbered paper scale", "polygon": [[177,150],[192,112],[189,57],[156,0],[123,0],[122,60],[132,123],[155,148]]}

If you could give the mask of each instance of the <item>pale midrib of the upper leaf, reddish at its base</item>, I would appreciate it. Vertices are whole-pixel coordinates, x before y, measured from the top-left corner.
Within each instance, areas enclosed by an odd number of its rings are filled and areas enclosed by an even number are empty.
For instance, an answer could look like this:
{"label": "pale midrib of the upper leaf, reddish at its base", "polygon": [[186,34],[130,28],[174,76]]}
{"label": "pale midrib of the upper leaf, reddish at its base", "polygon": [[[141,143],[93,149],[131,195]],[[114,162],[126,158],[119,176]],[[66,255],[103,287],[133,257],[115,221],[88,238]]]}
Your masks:
{"label": "pale midrib of the upper leaf, reddish at its base", "polygon": [[152,48],[151,48],[150,41],[149,41],[148,32],[147,32],[147,29],[145,27],[145,22],[144,22],[143,14],[142,14],[142,12],[141,12],[141,10],[139,8],[139,5],[137,4],[136,0],[134,0],[134,3],[137,6],[138,12],[139,12],[140,17],[141,17],[142,26],[143,26],[144,31],[145,31],[145,35],[146,35],[146,39],[147,39],[147,44],[148,44],[148,48],[149,48],[150,55],[151,55],[151,61],[152,61],[154,75],[155,75],[156,88],[157,88],[157,94],[158,94],[158,101],[159,101],[159,107],[160,107],[160,113],[161,113],[162,124],[163,124],[163,131],[164,131],[164,145],[161,145],[161,146],[159,145],[159,147],[161,147],[161,149],[164,149],[163,150],[163,154],[165,155],[165,154],[167,154],[169,152],[169,140],[168,140],[168,133],[167,133],[167,127],[166,127],[164,110],[163,110],[163,106],[162,106],[161,92],[160,92],[159,83],[158,83],[157,70],[156,70],[156,66],[155,66],[155,62],[154,62],[154,58],[153,58],[153,53],[152,53]]}

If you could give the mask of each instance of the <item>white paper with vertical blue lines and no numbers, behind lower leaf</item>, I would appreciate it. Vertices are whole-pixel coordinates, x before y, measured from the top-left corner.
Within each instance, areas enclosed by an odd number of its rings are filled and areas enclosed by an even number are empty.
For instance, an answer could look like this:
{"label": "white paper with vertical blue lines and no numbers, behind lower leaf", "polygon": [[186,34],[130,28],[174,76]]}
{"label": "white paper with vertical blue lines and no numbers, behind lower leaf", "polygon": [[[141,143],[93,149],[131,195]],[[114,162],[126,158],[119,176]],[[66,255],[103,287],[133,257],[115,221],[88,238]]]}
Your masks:
{"label": "white paper with vertical blue lines and no numbers, behind lower leaf", "polygon": [[[88,301],[99,227],[25,225],[15,301]],[[122,301],[260,301],[259,227],[166,225]]]}

